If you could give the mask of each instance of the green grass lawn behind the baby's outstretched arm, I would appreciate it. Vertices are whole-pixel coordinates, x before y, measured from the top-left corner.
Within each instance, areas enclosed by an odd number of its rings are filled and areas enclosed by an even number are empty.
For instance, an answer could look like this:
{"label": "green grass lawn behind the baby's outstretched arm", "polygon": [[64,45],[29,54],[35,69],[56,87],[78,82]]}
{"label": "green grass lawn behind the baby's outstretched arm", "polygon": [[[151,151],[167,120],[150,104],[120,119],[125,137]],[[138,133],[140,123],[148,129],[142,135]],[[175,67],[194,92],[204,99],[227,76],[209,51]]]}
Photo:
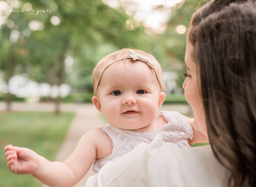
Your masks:
{"label": "green grass lawn behind the baby's outstretched arm", "polygon": [[0,186],[41,187],[31,175],[16,175],[6,167],[4,147],[8,144],[28,147],[53,161],[75,113],[52,112],[0,113]]}

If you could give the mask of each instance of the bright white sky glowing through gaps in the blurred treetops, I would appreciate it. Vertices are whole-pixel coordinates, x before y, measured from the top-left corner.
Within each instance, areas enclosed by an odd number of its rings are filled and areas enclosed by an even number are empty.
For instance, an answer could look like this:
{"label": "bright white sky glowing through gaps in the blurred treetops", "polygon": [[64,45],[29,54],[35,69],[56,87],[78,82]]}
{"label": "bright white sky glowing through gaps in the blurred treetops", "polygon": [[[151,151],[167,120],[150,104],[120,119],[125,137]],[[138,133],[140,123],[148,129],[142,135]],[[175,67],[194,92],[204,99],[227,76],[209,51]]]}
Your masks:
{"label": "bright white sky glowing through gaps in the blurred treetops", "polygon": [[[72,1],[67,1],[68,5],[72,6]],[[136,22],[142,22],[144,27],[151,28],[151,31],[154,33],[163,34],[166,30],[166,23],[170,19],[171,8],[173,8],[177,3],[183,3],[184,0],[102,0],[103,3],[108,5],[113,9],[123,8],[127,15],[133,15],[133,18]],[[0,1],[0,27],[5,24],[8,16],[11,14],[10,10],[21,9],[24,8],[28,10],[33,7],[30,3],[25,3],[24,7],[21,7],[21,3],[18,0],[6,0]],[[58,5],[56,3],[52,3],[49,7],[52,11],[58,9]],[[132,24],[127,20],[126,23],[131,29],[136,29],[136,23]],[[54,25],[58,25],[60,23],[60,19],[57,16],[51,17],[51,22]],[[12,26],[12,22],[6,23],[7,26]],[[40,22],[33,21],[29,25],[31,30],[42,30],[43,25]],[[184,27],[180,28],[180,32],[183,33]],[[145,32],[147,33],[147,29]],[[186,28],[185,28],[186,31]],[[28,34],[28,33],[25,33]],[[17,33],[13,34],[11,40],[15,40],[17,37]]]}

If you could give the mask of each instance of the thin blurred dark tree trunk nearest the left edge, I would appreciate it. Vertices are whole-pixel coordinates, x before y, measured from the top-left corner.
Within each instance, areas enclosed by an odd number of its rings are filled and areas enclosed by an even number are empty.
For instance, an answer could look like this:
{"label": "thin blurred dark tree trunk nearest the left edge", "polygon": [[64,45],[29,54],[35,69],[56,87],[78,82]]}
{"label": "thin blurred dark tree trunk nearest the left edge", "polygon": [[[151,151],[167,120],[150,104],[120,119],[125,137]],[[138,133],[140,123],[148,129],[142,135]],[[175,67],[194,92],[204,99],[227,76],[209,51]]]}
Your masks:
{"label": "thin blurred dark tree trunk nearest the left edge", "polygon": [[6,110],[11,111],[11,93],[9,92],[9,80],[13,76],[13,51],[12,47],[10,47],[9,50],[9,56],[7,59],[7,65],[6,65],[6,83],[7,83],[7,93],[5,96],[5,102],[6,102]]}

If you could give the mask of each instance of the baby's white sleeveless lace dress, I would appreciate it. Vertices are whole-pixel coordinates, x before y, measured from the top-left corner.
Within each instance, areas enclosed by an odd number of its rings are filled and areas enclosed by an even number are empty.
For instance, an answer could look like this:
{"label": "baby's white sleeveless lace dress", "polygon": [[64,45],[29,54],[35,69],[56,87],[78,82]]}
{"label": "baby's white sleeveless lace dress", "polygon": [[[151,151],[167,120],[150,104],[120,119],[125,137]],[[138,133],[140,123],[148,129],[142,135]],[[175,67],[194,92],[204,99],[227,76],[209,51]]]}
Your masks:
{"label": "baby's white sleeveless lace dress", "polygon": [[186,119],[176,111],[160,111],[166,120],[160,128],[151,132],[135,132],[133,130],[119,129],[110,124],[102,126],[102,130],[106,132],[113,142],[113,150],[109,156],[95,160],[93,171],[99,172],[103,165],[113,162],[129,153],[139,143],[150,143],[154,137],[161,133],[164,142],[176,143],[180,149],[189,146],[187,139],[193,138],[193,130]]}

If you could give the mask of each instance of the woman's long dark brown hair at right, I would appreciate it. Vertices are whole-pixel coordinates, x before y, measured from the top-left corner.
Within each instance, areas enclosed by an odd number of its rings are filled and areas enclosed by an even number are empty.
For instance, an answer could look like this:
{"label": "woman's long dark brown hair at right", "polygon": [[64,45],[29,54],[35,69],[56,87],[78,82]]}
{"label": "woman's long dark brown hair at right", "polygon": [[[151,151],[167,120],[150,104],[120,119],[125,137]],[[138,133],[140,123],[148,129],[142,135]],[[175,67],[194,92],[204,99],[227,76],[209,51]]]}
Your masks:
{"label": "woman's long dark brown hair at right", "polygon": [[256,2],[215,0],[192,17],[209,140],[229,186],[256,186]]}

